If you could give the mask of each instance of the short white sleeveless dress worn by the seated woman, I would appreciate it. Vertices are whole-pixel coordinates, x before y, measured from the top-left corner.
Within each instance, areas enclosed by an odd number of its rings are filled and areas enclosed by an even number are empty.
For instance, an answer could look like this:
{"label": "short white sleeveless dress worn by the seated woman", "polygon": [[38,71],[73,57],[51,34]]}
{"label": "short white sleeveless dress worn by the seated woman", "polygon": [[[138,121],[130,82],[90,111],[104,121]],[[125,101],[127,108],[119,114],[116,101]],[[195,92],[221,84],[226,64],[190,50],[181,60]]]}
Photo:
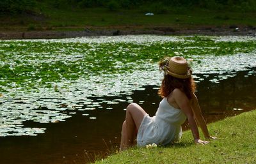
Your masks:
{"label": "short white sleeveless dress worn by the seated woman", "polygon": [[179,140],[182,135],[181,124],[186,121],[182,110],[172,107],[167,98],[159,103],[156,116],[144,116],[137,135],[137,145],[166,145]]}

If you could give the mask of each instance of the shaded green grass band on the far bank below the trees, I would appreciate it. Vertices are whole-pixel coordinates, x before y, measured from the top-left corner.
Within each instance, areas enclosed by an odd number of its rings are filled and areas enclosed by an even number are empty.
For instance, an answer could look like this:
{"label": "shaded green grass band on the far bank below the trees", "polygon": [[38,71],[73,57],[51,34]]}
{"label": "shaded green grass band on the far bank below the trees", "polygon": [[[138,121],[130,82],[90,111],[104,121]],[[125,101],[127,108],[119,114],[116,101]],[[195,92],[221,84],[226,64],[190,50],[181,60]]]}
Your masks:
{"label": "shaded green grass band on the far bank below the trees", "polygon": [[[35,30],[82,30],[118,28],[148,29],[156,26],[171,26],[174,29],[198,26],[256,26],[255,12],[212,11],[200,8],[170,9],[167,13],[145,16],[150,12],[147,6],[131,10],[109,11],[107,8],[53,8],[38,2],[40,11],[36,15],[0,15],[0,30],[27,30],[31,25]],[[152,12],[152,11],[151,11]]]}

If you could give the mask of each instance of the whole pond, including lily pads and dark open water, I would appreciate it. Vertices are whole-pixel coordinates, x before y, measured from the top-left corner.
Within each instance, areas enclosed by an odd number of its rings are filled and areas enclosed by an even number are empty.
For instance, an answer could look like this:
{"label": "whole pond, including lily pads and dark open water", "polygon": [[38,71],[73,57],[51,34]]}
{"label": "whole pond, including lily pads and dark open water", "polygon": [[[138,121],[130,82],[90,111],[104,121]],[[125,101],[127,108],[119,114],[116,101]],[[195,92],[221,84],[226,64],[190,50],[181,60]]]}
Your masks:
{"label": "whole pond, including lily pads and dark open water", "polygon": [[1,40],[0,163],[88,163],[115,152],[129,103],[155,114],[166,55],[188,59],[207,123],[253,110],[255,45],[250,36]]}

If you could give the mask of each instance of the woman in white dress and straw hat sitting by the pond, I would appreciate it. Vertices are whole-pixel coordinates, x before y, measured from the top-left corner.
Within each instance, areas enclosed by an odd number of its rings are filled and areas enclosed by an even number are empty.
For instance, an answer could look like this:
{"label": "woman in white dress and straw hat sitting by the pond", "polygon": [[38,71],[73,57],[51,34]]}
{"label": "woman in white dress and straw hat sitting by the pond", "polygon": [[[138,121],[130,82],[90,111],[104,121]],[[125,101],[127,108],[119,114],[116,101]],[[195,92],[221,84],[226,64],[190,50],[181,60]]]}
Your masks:
{"label": "woman in white dress and straw hat sitting by the pond", "polygon": [[207,130],[195,95],[192,71],[186,59],[166,57],[159,62],[159,68],[164,71],[159,89],[163,100],[159,103],[156,116],[149,117],[136,103],[128,105],[122,126],[121,151],[132,146],[136,137],[138,146],[154,143],[166,145],[175,142],[182,135],[181,125],[186,119],[196,144],[209,143],[209,141],[200,140],[197,124],[202,129],[205,139],[215,139]]}

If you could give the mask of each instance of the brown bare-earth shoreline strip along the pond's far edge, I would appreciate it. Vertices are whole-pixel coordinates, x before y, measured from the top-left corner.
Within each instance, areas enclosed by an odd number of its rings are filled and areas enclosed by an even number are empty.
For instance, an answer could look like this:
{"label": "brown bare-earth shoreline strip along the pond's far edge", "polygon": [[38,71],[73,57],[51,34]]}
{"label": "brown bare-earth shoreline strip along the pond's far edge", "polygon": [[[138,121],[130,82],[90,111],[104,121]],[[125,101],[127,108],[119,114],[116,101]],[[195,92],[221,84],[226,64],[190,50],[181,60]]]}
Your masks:
{"label": "brown bare-earth shoreline strip along the pond's far edge", "polygon": [[256,27],[192,27],[174,29],[172,27],[84,27],[77,31],[0,31],[0,40],[16,39],[58,39],[76,38],[83,36],[118,36],[118,35],[138,35],[138,34],[157,34],[157,35],[209,35],[209,36],[254,36],[256,37]]}

